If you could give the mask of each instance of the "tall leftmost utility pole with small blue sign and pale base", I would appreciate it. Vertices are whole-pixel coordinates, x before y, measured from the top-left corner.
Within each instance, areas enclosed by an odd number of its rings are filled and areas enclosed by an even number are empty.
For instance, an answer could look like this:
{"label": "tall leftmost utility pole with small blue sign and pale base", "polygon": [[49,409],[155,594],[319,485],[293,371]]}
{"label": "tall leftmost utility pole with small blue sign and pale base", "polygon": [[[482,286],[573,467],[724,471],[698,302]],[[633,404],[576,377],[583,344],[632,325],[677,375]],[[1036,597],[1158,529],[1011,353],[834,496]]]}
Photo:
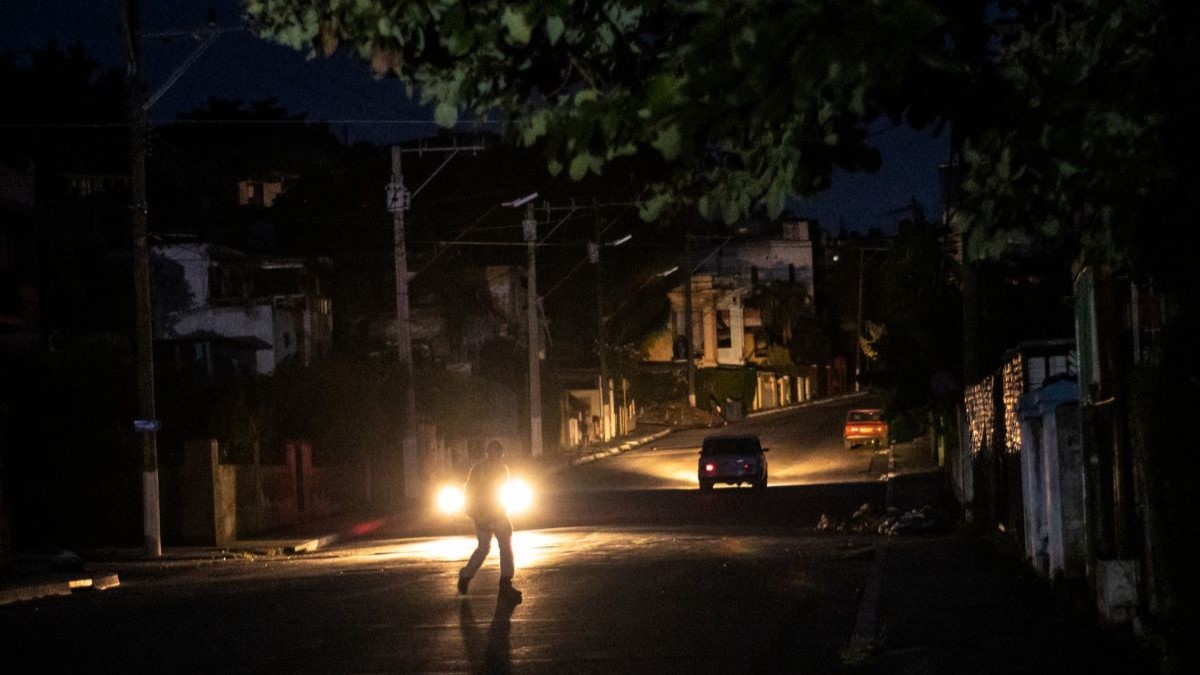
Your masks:
{"label": "tall leftmost utility pole with small blue sign and pale base", "polygon": [[134,429],[142,434],[142,533],[146,555],[162,557],[162,527],[158,516],[158,418],[154,392],[154,327],[150,311],[150,243],[146,205],[148,123],[145,88],[142,82],[142,23],[138,0],[125,4],[126,86],[130,108],[130,187],[133,231],[133,288],[138,362],[138,416]]}

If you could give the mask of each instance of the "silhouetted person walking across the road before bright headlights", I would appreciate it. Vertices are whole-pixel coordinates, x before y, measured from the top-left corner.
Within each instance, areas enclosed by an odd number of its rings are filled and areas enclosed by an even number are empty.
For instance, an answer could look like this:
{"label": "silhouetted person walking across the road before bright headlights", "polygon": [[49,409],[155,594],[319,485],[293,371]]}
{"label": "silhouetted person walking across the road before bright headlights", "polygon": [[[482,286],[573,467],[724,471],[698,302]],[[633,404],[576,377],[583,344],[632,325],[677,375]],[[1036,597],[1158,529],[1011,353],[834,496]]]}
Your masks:
{"label": "silhouetted person walking across the road before bright headlights", "polygon": [[509,482],[509,467],[503,459],[504,447],[492,441],[487,444],[487,456],[470,467],[467,477],[467,515],[475,521],[479,545],[466,567],[458,571],[458,592],[466,595],[472,578],[492,550],[492,537],[496,537],[500,548],[500,597],[516,604],[521,602],[521,591],[512,587],[512,524],[502,496]]}

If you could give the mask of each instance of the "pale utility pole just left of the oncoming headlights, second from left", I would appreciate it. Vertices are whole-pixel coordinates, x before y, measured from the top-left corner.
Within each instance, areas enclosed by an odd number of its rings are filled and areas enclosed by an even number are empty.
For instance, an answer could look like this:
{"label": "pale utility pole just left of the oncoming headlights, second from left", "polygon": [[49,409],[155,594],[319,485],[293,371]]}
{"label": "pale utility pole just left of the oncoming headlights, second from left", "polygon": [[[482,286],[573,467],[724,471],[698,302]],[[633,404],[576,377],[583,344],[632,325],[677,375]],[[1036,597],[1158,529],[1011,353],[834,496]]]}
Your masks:
{"label": "pale utility pole just left of the oncoming headlights, second from left", "polygon": [[403,389],[403,438],[401,459],[404,470],[404,498],[420,494],[421,456],[416,443],[416,392],[413,387],[413,334],[408,316],[408,246],[404,239],[404,211],[412,204],[400,162],[400,147],[391,147],[391,183],[388,184],[388,209],[396,264],[396,352],[400,360],[400,386]]}

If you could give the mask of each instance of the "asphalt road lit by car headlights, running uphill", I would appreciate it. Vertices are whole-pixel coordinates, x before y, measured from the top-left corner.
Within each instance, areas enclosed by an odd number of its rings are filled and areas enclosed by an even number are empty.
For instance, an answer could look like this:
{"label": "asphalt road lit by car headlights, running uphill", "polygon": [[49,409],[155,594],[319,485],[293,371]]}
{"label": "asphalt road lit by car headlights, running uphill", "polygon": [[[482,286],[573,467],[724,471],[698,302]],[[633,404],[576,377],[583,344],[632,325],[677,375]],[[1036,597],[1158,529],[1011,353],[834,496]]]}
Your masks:
{"label": "asphalt road lit by car headlights, running uphill", "polygon": [[698,494],[703,431],[559,473],[516,521],[517,607],[497,599],[494,554],[458,597],[467,524],[426,522],[444,533],[394,526],[289,558],[124,563],[118,590],[0,607],[4,661],[38,673],[838,671],[875,539],[814,526],[881,498],[878,456],[840,444],[845,411],[863,402],[724,430],[772,448],[762,494]]}

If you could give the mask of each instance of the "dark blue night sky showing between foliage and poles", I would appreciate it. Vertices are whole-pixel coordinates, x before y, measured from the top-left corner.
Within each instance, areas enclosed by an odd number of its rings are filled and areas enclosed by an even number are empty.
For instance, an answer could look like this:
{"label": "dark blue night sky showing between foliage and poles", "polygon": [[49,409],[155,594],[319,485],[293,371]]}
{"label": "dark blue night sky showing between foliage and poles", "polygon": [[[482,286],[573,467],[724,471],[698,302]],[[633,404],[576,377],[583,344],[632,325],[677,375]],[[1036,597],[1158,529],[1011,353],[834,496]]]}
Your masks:
{"label": "dark blue night sky showing between foliage and poles", "polygon": [[[143,30],[182,30],[204,25],[209,7],[217,25],[240,25],[236,0],[143,0]],[[6,0],[0,7],[0,53],[20,54],[29,47],[79,42],[102,64],[124,65],[120,37],[122,0]],[[146,38],[148,90],[157,90],[199,42],[190,36]],[[334,124],[352,139],[377,143],[413,138],[436,130],[427,109],[409,102],[395,79],[374,79],[370,70],[346,56],[308,60],[302,54],[264,42],[248,31],[223,34],[150,110],[155,121],[203,104],[210,96],[254,101],[276,98],[310,119]],[[370,120],[370,121],[368,121]],[[947,156],[947,137],[934,138],[908,127],[875,129],[872,142],[883,154],[875,174],[834,174],[829,191],[793,201],[797,214],[816,217],[827,228],[894,228],[901,208],[916,196],[930,216],[938,204],[937,165]]]}

